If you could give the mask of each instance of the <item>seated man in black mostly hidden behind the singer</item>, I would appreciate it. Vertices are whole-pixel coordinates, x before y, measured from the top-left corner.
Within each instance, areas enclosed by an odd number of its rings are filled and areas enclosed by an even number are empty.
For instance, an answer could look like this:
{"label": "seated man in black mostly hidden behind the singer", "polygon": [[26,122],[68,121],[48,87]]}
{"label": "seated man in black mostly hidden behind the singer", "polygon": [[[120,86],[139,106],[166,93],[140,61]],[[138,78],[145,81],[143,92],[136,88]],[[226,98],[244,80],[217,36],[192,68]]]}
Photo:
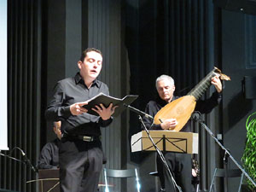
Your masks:
{"label": "seated man in black mostly hidden behind the singer", "polygon": [[53,127],[57,138],[46,143],[38,160],[38,169],[59,168],[59,144],[61,142],[61,121],[54,122]]}

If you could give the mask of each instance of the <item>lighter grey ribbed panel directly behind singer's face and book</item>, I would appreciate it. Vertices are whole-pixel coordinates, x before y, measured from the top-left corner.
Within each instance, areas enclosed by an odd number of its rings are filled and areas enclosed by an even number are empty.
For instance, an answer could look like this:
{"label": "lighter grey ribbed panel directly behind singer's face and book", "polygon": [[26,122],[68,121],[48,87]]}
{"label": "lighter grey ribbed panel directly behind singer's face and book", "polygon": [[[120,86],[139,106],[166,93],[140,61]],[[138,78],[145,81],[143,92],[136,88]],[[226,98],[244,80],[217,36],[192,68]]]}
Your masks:
{"label": "lighter grey ribbed panel directly behind singer's face and book", "polygon": [[[120,17],[119,0],[88,1],[88,47],[102,50],[103,64],[99,79],[108,84],[111,96],[119,98],[125,96],[121,94],[121,75],[125,74],[121,74],[120,71],[122,65]],[[109,127],[102,129],[102,147],[108,158],[106,165],[108,168],[121,169],[121,150],[125,147],[121,146],[121,129],[124,128],[119,116],[113,119]],[[109,182],[115,185],[115,190],[124,191],[120,189],[120,183],[116,179],[109,178]]]}

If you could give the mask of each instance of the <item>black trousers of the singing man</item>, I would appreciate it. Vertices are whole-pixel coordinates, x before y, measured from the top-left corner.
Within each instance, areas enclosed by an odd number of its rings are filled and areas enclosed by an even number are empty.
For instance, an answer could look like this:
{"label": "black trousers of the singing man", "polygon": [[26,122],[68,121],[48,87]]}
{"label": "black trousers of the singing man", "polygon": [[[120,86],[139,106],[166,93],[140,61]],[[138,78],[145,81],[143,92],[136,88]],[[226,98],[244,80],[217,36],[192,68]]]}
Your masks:
{"label": "black trousers of the singing man", "polygon": [[61,139],[61,192],[96,192],[102,172],[101,141]]}

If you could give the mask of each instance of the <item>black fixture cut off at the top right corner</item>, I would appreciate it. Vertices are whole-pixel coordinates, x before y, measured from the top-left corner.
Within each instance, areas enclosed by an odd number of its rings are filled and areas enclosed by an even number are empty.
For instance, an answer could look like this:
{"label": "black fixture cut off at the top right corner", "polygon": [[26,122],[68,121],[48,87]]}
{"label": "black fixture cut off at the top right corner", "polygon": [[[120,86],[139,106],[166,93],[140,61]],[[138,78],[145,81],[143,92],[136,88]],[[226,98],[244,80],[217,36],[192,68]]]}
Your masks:
{"label": "black fixture cut off at the top right corner", "polygon": [[256,15],[256,0],[212,0],[212,2],[222,9]]}

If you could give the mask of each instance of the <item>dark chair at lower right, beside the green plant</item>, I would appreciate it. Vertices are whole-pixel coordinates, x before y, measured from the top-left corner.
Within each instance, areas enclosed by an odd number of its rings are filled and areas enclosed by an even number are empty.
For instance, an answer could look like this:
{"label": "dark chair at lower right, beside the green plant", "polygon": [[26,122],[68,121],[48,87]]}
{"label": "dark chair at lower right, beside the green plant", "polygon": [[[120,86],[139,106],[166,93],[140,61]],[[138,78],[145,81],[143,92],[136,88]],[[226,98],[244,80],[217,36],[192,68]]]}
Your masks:
{"label": "dark chair at lower right, beside the green plant", "polygon": [[[214,181],[215,181],[215,177],[225,177],[225,176],[226,176],[226,170],[225,169],[215,168],[209,192],[211,192],[212,189],[214,191],[216,191],[214,186],[213,186]],[[241,170],[240,169],[227,170],[227,177],[241,177],[240,184],[239,184],[239,189],[238,189],[238,192],[240,192],[241,191],[241,182],[242,182],[242,178],[243,178],[243,173],[241,173]]]}

